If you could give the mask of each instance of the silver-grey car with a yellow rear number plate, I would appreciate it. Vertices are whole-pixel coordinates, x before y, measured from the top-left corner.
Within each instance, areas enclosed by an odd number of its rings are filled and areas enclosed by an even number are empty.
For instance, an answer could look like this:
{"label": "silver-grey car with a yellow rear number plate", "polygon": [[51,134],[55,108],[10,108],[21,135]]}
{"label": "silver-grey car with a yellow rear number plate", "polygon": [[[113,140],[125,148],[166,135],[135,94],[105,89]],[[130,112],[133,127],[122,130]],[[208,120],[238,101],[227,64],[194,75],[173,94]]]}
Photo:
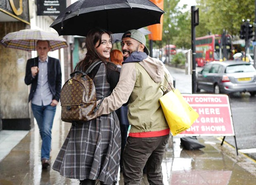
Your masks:
{"label": "silver-grey car with a yellow rear number plate", "polygon": [[197,73],[196,89],[213,93],[249,92],[256,94],[256,69],[249,62],[210,62]]}

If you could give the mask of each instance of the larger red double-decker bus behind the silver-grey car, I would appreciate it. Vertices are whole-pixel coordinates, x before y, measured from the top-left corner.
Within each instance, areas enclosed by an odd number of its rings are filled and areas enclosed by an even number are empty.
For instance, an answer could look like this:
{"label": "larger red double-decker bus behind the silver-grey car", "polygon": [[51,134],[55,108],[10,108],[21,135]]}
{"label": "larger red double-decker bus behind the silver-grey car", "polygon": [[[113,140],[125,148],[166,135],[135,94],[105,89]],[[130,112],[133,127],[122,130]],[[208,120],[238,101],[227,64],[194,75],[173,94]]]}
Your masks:
{"label": "larger red double-decker bus behind the silver-grey car", "polygon": [[[232,42],[231,35],[226,35],[226,52],[227,58],[230,59],[232,57]],[[224,49],[221,49],[220,56],[220,42],[221,35],[207,35],[204,37],[196,38],[196,64],[197,66],[204,66],[208,62],[212,61],[222,61],[224,56]]]}

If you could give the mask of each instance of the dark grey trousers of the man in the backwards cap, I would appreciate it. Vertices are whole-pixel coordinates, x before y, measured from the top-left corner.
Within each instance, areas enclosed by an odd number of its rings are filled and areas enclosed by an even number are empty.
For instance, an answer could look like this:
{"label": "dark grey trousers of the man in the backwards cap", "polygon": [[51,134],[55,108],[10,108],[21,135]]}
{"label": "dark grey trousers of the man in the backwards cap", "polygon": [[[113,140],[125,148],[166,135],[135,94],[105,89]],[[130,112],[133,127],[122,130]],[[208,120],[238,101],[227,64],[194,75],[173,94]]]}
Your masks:
{"label": "dark grey trousers of the man in the backwards cap", "polygon": [[123,152],[123,179],[125,185],[140,185],[146,165],[150,185],[163,185],[161,163],[169,134],[159,137],[128,137]]}

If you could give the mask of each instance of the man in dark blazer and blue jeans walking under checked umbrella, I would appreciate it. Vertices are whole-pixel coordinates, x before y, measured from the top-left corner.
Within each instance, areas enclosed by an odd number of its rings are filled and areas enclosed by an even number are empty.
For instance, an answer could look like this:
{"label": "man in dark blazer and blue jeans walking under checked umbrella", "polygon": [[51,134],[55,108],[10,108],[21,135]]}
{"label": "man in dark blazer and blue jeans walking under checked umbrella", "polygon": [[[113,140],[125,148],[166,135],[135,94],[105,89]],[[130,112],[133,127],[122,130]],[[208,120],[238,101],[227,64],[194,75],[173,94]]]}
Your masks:
{"label": "man in dark blazer and blue jeans walking under checked umbrella", "polygon": [[47,56],[50,51],[49,41],[38,40],[36,51],[38,57],[27,61],[25,83],[31,84],[28,102],[31,101],[33,115],[42,139],[42,167],[47,168],[50,166],[51,130],[56,105],[59,102],[62,73],[59,60]]}

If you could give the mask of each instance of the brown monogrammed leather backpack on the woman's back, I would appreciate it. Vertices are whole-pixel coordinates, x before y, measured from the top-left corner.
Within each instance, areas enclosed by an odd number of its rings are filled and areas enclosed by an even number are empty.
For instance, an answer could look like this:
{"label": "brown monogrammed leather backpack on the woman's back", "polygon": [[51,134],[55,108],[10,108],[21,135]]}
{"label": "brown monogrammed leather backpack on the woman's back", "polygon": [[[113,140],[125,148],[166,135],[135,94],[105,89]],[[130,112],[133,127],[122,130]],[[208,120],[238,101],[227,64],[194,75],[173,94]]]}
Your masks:
{"label": "brown monogrammed leather backpack on the woman's back", "polygon": [[60,93],[62,121],[79,123],[96,117],[98,107],[95,85],[87,74],[100,63],[101,61],[94,62],[86,72],[75,71],[70,74],[71,79],[66,81]]}

